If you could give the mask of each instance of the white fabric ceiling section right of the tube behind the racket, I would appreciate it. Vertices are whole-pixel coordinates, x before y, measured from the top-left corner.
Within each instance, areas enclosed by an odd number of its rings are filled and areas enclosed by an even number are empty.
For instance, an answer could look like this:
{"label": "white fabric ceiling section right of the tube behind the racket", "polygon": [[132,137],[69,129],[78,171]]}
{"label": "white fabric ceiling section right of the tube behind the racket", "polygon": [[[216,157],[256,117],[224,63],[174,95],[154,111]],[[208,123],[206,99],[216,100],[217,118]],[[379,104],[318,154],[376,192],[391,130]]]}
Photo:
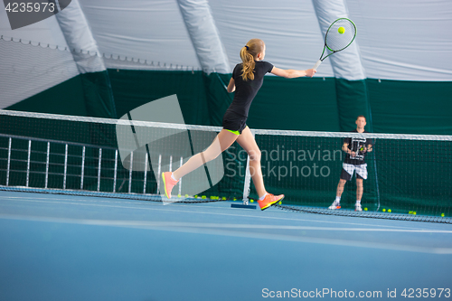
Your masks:
{"label": "white fabric ceiling section right of the tube behind the racket", "polygon": [[452,1],[346,0],[367,77],[452,80]]}

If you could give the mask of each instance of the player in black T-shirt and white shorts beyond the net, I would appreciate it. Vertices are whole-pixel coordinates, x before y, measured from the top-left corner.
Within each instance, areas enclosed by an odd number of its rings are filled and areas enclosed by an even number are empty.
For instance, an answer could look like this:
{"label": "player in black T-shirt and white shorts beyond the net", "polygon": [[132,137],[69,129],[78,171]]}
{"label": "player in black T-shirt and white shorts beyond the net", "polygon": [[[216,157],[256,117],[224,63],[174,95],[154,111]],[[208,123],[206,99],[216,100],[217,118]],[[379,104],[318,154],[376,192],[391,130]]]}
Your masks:
{"label": "player in black T-shirt and white shorts beyond the net", "polygon": [[[364,130],[366,125],[366,118],[363,115],[356,118],[356,129],[351,133],[368,133]],[[353,172],[356,173],[356,203],[354,210],[357,212],[363,211],[361,207],[361,199],[363,197],[363,180],[367,179],[367,164],[365,163],[365,155],[372,152],[372,139],[365,138],[345,138],[342,150],[347,153],[344,159],[344,165],[341,172],[341,178],[337,184],[336,198],[329,209],[341,208],[341,195],[344,193],[344,186],[347,181],[353,177]]]}

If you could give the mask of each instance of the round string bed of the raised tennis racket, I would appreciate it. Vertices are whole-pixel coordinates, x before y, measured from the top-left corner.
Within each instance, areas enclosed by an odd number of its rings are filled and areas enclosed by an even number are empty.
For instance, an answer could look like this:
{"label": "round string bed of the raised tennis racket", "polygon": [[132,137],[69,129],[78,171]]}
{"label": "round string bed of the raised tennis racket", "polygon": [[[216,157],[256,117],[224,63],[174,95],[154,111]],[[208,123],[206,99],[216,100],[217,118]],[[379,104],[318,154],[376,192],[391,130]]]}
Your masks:
{"label": "round string bed of the raised tennis racket", "polygon": [[[340,27],[344,27],[344,33],[339,33]],[[326,46],[332,52],[341,51],[353,42],[355,35],[356,27],[350,20],[337,20],[330,26],[326,33]]]}

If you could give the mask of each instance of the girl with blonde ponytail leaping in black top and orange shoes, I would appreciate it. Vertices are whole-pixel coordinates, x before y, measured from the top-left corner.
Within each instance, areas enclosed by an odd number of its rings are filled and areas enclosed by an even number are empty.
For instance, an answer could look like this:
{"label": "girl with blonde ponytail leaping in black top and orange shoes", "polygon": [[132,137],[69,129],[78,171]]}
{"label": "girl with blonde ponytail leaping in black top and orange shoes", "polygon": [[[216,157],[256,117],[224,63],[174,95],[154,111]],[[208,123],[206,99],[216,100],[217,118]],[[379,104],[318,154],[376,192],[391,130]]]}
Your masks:
{"label": "girl with blonde ponytail leaping in black top and orange shoes", "polygon": [[232,72],[232,78],[228,85],[228,92],[235,92],[231,106],[226,110],[222,120],[221,132],[202,153],[193,155],[184,165],[179,167],[173,173],[163,173],[162,177],[165,185],[165,194],[171,198],[171,190],[185,174],[188,174],[196,168],[202,166],[205,162],[215,159],[221,152],[230,147],[234,141],[237,141],[243,149],[250,155],[250,174],[253,179],[256,191],[259,194],[259,207],[265,210],[271,205],[281,201],[284,194],[273,195],[267,193],[262,178],[260,168],[260,150],[252,136],[250,128],[246,125],[248,111],[256,94],[258,93],[264,75],[271,72],[275,75],[287,79],[298,77],[313,77],[314,69],[306,71],[282,70],[274,67],[267,61],[262,61],[265,57],[265,43],[259,39],[251,39],[240,50],[241,63],[236,65]]}

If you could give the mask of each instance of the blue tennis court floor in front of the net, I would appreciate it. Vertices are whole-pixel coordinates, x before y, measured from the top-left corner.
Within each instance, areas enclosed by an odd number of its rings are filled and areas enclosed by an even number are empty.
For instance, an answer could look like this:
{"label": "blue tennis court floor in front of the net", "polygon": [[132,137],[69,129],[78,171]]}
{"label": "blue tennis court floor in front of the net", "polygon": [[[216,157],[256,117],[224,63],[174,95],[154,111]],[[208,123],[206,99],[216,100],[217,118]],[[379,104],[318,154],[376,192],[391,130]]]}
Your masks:
{"label": "blue tennis court floor in front of the net", "polygon": [[419,221],[1,192],[0,241],[0,300],[448,299],[452,287],[452,228]]}

